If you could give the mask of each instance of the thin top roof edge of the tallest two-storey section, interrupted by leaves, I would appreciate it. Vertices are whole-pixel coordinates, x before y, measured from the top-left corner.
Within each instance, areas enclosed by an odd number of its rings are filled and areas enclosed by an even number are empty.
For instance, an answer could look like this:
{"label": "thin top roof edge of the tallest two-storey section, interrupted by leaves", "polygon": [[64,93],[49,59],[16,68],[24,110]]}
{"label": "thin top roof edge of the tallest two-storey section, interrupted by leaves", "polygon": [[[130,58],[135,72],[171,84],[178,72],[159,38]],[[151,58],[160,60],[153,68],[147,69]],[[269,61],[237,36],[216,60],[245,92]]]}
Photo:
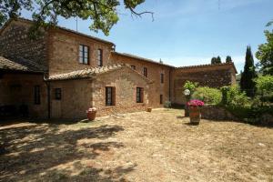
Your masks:
{"label": "thin top roof edge of the tallest two-storey section, interrupted by leaves", "polygon": [[[10,23],[12,22],[13,20],[19,20],[19,21],[23,21],[23,22],[27,22],[27,23],[30,23],[30,24],[33,24],[34,21],[33,20],[30,20],[30,19],[26,19],[26,18],[23,18],[23,17],[17,17],[16,19],[9,19],[5,25],[0,29],[0,34],[1,32],[5,29],[5,27]],[[76,35],[82,35],[82,36],[86,36],[87,38],[91,38],[93,40],[96,40],[96,41],[99,41],[99,42],[103,42],[103,43],[106,43],[108,45],[115,45],[114,43],[112,42],[109,42],[109,41],[106,41],[104,39],[101,39],[101,38],[97,38],[96,36],[91,36],[91,35],[86,35],[86,34],[83,34],[83,33],[80,33],[80,32],[76,32],[75,30],[71,30],[69,28],[66,28],[66,27],[62,27],[62,26],[59,26],[59,25],[56,25],[55,28],[58,28],[60,30],[64,30],[66,32],[70,32],[72,34],[76,34]]]}

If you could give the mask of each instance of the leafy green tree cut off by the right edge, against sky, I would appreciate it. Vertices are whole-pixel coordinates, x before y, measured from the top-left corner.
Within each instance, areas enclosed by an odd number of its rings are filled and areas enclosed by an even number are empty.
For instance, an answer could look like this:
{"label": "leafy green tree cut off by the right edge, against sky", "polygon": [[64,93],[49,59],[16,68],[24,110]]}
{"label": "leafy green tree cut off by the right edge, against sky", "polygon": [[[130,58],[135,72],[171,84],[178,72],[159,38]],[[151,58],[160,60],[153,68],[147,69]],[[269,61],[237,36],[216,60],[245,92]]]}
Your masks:
{"label": "leafy green tree cut off by the right edge, against sky", "polygon": [[263,75],[273,76],[273,31],[265,31],[267,43],[258,45],[256,57],[259,60],[259,66]]}

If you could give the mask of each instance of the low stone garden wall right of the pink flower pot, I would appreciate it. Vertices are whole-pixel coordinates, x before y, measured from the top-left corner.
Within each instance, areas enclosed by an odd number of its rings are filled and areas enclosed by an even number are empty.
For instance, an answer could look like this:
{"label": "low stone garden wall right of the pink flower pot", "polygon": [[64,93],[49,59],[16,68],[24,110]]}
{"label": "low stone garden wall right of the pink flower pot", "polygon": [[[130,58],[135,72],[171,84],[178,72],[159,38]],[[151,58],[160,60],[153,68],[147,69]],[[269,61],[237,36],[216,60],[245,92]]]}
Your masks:
{"label": "low stone garden wall right of the pink flower pot", "polygon": [[203,106],[202,118],[212,120],[233,120],[239,121],[236,116],[233,116],[226,108],[221,106]]}

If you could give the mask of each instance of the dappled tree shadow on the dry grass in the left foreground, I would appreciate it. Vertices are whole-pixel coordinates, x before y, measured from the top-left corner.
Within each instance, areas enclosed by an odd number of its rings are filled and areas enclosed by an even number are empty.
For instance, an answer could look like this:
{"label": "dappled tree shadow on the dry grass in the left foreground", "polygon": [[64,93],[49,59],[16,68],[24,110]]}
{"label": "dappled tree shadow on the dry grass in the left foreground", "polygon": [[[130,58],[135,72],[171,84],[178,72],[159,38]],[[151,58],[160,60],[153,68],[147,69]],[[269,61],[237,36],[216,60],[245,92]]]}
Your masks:
{"label": "dappled tree shadow on the dry grass in the left foreground", "polygon": [[[122,177],[135,166],[104,169],[80,162],[124,147],[120,142],[105,141],[123,130],[116,125],[62,130],[56,124],[1,129],[6,153],[0,156],[0,181],[36,177],[41,181],[126,181]],[[71,175],[75,171],[78,174]]]}

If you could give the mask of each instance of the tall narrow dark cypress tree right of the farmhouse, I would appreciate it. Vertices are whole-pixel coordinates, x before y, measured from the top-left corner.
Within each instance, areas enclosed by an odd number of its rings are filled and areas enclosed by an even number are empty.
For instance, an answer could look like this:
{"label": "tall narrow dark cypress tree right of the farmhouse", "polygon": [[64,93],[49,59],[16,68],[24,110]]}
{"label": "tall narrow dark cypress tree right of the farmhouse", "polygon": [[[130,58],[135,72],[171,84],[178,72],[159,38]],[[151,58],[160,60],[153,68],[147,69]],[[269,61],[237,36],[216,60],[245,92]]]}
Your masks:
{"label": "tall narrow dark cypress tree right of the farmhouse", "polygon": [[255,82],[254,78],[257,77],[255,66],[254,66],[254,59],[251,53],[251,47],[247,47],[246,52],[246,63],[244,66],[244,72],[241,75],[240,80],[240,88],[242,91],[247,93],[247,96],[254,96],[255,95]]}

